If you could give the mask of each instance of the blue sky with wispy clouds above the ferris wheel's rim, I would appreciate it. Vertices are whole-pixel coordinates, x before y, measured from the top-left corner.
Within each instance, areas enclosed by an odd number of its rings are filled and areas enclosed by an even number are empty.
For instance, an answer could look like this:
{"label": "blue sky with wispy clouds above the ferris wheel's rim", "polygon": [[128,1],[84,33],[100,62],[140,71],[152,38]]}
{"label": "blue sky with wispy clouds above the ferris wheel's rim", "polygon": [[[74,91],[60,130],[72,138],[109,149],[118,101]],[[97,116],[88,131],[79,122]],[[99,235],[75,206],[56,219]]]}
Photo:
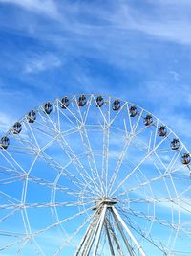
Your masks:
{"label": "blue sky with wispy clouds above the ferris wheel's rim", "polygon": [[0,133],[74,93],[153,112],[191,143],[191,2],[0,0]]}

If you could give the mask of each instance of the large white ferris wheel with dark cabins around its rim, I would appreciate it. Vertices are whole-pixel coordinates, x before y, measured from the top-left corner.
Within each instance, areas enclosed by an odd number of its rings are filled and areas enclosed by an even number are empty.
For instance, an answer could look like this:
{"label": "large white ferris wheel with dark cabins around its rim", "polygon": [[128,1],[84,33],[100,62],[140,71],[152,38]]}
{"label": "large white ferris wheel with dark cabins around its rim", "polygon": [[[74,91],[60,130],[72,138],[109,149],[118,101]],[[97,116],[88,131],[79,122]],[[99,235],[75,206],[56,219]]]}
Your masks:
{"label": "large white ferris wheel with dark cabins around its rim", "polygon": [[40,105],[0,140],[0,255],[191,255],[190,161],[138,105]]}

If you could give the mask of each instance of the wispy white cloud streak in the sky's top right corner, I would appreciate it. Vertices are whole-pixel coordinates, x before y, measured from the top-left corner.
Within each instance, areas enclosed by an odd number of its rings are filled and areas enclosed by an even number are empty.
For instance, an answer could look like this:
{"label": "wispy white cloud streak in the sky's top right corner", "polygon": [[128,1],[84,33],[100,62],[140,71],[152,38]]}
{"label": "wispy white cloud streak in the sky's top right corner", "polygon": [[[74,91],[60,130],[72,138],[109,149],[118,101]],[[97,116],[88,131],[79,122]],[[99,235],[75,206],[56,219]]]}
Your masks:
{"label": "wispy white cloud streak in the sky's top right corner", "polygon": [[[149,1],[148,12],[131,6],[127,1],[118,0],[116,12],[107,15],[114,26],[123,30],[137,30],[148,35],[181,44],[190,44],[189,1]],[[147,4],[148,4],[147,3]],[[145,6],[146,7],[146,6]]]}

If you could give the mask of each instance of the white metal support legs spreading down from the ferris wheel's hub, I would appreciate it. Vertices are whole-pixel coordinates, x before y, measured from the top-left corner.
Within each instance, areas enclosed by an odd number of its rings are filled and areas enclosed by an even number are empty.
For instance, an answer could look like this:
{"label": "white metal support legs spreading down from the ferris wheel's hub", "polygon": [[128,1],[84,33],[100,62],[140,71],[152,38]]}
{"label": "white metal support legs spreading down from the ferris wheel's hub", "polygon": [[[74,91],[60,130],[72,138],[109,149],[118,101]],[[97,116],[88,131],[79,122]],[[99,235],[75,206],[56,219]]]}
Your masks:
{"label": "white metal support legs spreading down from the ferris wheel's hub", "polygon": [[[120,217],[115,204],[117,201],[104,198],[97,202],[95,214],[74,254],[74,256],[96,256],[101,246],[101,237],[107,240],[112,256],[146,256],[142,247]],[[120,236],[120,239],[118,239]]]}

